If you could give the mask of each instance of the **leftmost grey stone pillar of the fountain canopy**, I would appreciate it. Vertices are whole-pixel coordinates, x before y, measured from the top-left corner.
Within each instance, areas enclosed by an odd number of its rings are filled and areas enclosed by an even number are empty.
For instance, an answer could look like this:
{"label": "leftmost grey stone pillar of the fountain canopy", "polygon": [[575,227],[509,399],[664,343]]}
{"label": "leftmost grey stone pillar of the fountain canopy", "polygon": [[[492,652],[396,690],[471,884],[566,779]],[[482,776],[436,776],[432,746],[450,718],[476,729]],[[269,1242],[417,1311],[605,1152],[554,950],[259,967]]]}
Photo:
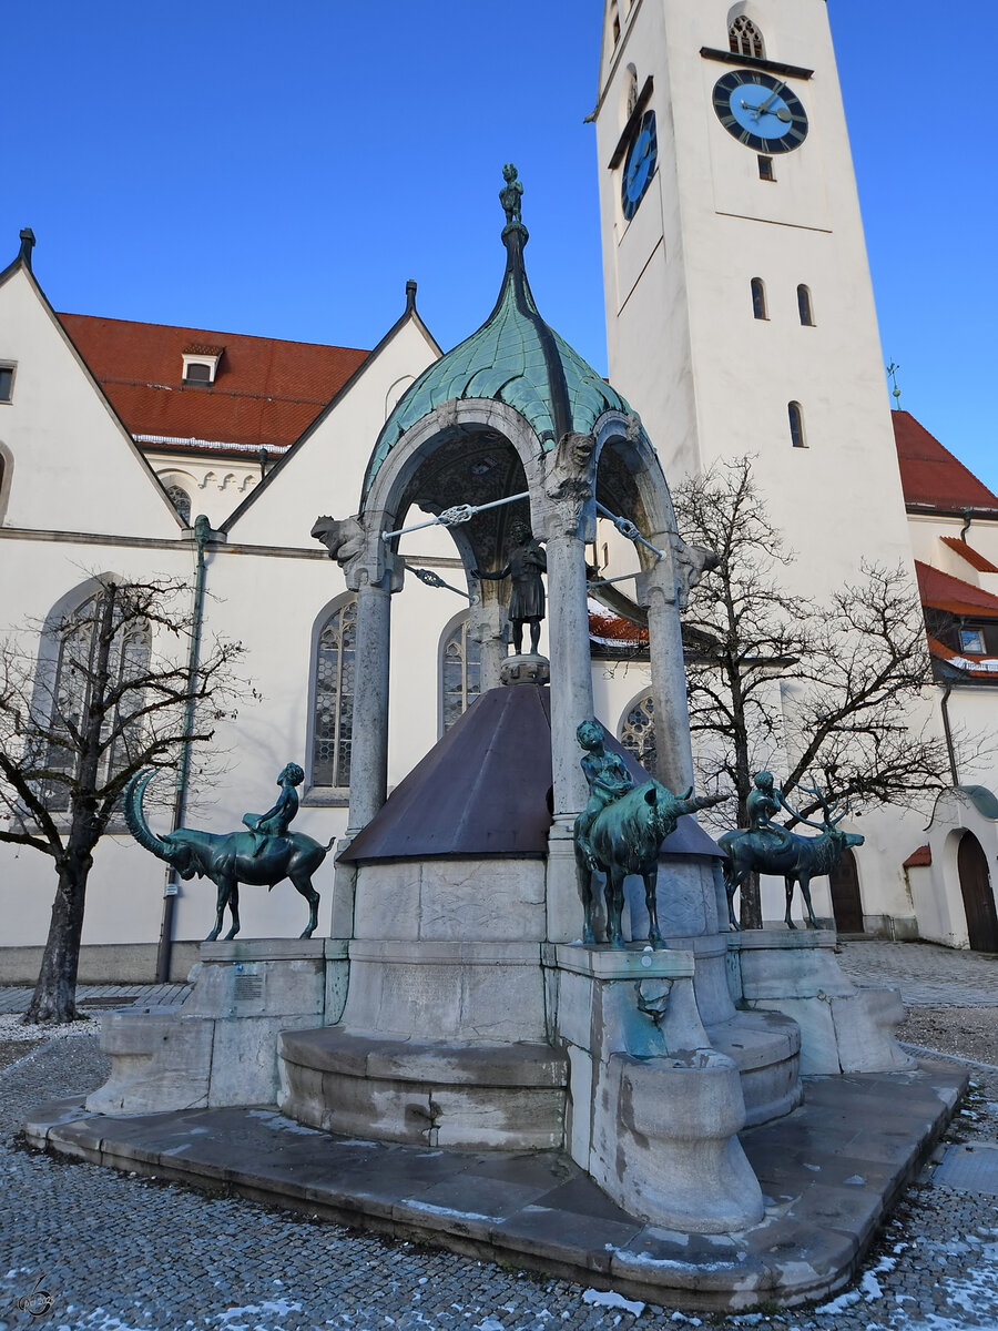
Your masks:
{"label": "leftmost grey stone pillar of the fountain canopy", "polygon": [[391,588],[387,583],[387,576],[378,583],[362,576],[357,588],[349,837],[371,821],[389,792]]}

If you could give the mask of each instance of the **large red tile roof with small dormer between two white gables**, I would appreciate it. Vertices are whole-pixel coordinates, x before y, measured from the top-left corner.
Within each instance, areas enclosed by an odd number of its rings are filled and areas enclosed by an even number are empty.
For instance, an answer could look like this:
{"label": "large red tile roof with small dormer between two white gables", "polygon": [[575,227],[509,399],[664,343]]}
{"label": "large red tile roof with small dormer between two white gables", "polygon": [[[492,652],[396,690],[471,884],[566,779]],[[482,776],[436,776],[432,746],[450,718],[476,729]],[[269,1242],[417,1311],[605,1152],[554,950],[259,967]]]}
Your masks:
{"label": "large red tile roof with small dormer between two white gables", "polygon": [[[287,447],[369,354],[90,314],[59,318],[133,435]],[[192,346],[225,349],[213,385],[181,382]]]}

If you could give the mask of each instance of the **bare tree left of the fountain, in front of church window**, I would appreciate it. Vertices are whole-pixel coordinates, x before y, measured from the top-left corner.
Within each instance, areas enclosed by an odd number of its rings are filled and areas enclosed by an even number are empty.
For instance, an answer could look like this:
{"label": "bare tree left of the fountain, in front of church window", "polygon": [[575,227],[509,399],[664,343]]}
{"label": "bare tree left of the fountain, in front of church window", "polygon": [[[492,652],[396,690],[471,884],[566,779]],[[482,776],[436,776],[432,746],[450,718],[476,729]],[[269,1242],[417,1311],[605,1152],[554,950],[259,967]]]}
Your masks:
{"label": "bare tree left of the fountain, in front of church window", "polygon": [[200,646],[192,588],[172,578],[96,579],[83,606],[0,644],[0,841],[51,856],[57,880],[27,1022],[75,1020],[94,847],[136,772],[186,761],[234,715],[241,655]]}

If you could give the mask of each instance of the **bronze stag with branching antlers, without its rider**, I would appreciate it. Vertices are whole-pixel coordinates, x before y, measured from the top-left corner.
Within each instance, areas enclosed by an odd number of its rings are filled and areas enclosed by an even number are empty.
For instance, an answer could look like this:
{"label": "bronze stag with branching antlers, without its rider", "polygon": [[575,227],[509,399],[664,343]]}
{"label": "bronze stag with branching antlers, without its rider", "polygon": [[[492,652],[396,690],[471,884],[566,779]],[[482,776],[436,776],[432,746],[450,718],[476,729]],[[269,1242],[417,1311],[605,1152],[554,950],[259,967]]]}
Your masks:
{"label": "bronze stag with branching antlers, without its rider", "polygon": [[[765,773],[761,773],[765,775]],[[749,873],[773,873],[784,880],[786,890],[786,913],[784,916],[788,929],[797,925],[790,918],[793,904],[793,888],[800,882],[801,896],[806,906],[805,928],[818,929],[814,917],[814,906],[810,900],[810,880],[822,878],[838,866],[842,852],[848,847],[862,845],[864,837],[857,832],[840,832],[838,824],[845,817],[845,812],[833,817],[834,805],[829,805],[820,791],[801,787],[809,795],[814,795],[821,804],[825,817],[822,823],[810,823],[800,819],[805,827],[816,828],[821,836],[804,837],[786,828],[770,828],[761,825],[757,829],[737,829],[725,832],[719,840],[720,848],[727,853],[724,861],[724,888],[728,894],[728,921],[732,929],[739,929],[735,918],[735,893],[741,888]],[[784,805],[788,808],[788,805]]]}

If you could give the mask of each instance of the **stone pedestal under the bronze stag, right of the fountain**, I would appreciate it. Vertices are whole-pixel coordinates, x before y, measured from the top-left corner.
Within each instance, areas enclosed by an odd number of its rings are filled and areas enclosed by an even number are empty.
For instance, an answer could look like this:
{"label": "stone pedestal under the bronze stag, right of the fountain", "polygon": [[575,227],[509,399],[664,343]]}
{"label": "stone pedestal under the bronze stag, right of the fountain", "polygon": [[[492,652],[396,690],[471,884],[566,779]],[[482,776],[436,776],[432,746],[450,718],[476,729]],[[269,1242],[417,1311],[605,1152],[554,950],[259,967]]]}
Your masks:
{"label": "stone pedestal under the bronze stag, right of the fountain", "polygon": [[736,1001],[781,1012],[800,1026],[801,1075],[912,1069],[894,1030],[905,1010],[896,989],[857,986],[836,960],[830,929],[744,929],[728,934]]}

